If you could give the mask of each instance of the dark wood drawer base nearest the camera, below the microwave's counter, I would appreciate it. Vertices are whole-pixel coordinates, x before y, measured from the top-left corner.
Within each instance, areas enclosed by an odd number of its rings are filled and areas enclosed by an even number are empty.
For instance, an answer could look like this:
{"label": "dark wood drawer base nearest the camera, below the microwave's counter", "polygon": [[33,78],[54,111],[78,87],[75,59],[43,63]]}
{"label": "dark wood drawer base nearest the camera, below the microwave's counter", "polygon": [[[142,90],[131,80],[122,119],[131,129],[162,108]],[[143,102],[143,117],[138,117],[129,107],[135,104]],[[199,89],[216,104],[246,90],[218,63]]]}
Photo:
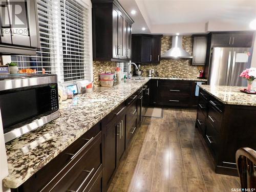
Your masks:
{"label": "dark wood drawer base nearest the camera, below the microwave's counter", "polygon": [[101,133],[100,122],[12,191],[90,191],[93,178],[102,172]]}

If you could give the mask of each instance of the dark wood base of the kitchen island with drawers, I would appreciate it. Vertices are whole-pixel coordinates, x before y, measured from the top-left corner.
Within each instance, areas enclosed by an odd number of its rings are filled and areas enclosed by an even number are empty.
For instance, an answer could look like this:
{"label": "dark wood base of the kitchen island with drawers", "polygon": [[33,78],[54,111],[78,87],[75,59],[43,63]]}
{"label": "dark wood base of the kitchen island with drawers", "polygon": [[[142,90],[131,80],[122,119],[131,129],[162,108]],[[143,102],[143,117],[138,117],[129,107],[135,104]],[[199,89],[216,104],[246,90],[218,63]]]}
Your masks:
{"label": "dark wood base of the kitchen island with drawers", "polygon": [[254,106],[223,104],[200,89],[196,126],[215,159],[216,173],[238,176],[236,151],[256,148]]}

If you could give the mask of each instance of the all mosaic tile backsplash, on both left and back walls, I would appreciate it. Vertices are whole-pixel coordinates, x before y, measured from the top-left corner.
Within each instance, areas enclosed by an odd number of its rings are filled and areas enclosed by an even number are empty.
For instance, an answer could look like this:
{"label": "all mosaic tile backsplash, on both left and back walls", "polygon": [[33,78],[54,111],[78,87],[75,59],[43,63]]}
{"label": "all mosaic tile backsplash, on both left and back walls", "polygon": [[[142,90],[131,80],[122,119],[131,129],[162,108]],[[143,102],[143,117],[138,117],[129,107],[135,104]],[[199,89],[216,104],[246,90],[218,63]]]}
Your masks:
{"label": "all mosaic tile backsplash, on both left and back walls", "polygon": [[[182,48],[192,54],[193,38],[183,36]],[[165,53],[172,47],[172,37],[162,37],[161,54]],[[148,70],[154,69],[158,72],[159,77],[180,77],[180,78],[197,78],[199,72],[196,66],[191,66],[192,59],[161,59],[160,63],[141,64],[143,70],[142,76],[148,76]],[[99,85],[99,74],[104,71],[114,71],[117,66],[116,62],[111,61],[93,61],[94,86]]]}

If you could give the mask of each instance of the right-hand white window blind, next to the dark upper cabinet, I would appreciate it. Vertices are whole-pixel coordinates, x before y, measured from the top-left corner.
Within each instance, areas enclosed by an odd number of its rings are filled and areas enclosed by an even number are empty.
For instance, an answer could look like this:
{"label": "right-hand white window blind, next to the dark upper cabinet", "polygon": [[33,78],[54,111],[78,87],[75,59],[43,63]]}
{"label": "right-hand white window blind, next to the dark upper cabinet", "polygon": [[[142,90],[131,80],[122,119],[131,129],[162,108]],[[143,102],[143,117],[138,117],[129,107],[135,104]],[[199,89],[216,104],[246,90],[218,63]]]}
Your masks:
{"label": "right-hand white window blind, next to the dark upper cabinet", "polygon": [[74,0],[60,0],[64,81],[90,76],[89,11]]}

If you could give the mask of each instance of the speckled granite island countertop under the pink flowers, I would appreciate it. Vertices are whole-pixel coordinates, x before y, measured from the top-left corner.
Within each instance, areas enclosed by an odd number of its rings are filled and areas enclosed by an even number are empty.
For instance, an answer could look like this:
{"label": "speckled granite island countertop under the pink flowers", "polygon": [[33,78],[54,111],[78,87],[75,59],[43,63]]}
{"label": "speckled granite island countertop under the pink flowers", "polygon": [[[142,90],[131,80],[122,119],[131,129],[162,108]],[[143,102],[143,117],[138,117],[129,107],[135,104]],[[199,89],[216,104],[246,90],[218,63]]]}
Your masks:
{"label": "speckled granite island countertop under the pink flowers", "polygon": [[256,95],[239,91],[244,87],[201,85],[200,88],[224,104],[256,106]]}

